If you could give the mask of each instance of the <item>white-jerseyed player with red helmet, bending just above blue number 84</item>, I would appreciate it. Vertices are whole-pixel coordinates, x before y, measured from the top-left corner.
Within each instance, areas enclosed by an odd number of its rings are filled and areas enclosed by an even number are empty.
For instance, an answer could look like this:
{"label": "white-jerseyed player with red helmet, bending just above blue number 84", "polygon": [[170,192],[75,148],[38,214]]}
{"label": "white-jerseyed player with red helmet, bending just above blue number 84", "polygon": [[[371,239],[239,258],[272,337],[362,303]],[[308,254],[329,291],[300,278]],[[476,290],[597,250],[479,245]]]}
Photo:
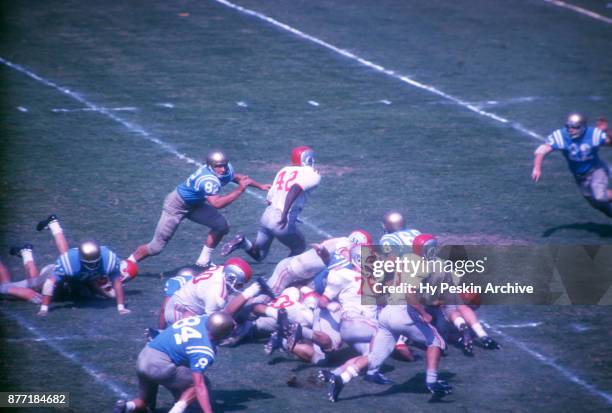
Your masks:
{"label": "white-jerseyed player with red helmet, bending just above blue number 84", "polygon": [[228,295],[239,292],[251,280],[252,274],[251,267],[242,258],[230,258],[221,266],[196,274],[166,303],[166,323],[222,310]]}

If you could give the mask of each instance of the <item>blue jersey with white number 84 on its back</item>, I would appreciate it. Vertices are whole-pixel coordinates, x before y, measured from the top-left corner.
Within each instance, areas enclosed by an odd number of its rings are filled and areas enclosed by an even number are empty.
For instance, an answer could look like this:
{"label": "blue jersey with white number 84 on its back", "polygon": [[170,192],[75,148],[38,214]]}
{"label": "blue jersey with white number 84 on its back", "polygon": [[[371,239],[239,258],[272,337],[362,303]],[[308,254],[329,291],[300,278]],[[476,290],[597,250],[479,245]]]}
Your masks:
{"label": "blue jersey with white number 84 on its back", "polygon": [[165,353],[177,366],[203,373],[215,361],[215,347],[208,338],[208,316],[183,318],[162,331],[148,346]]}

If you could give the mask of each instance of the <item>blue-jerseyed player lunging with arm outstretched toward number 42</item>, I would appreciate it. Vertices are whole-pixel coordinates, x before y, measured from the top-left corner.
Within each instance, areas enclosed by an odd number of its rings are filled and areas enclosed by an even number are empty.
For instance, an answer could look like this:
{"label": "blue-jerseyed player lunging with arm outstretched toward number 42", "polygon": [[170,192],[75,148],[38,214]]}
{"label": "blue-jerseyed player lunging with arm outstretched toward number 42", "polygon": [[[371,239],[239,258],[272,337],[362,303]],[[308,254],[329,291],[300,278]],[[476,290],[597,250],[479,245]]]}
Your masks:
{"label": "blue-jerseyed player lunging with arm outstretched toward number 42", "polygon": [[[238,188],[229,194],[220,195],[221,188],[230,182],[238,184]],[[195,171],[166,196],[153,239],[148,244],[136,248],[128,259],[139,262],[159,254],[181,221],[187,218],[210,228],[202,252],[196,261],[196,265],[208,267],[212,251],[229,232],[229,224],[218,210],[238,199],[249,186],[262,191],[270,188],[270,185],[260,184],[246,175],[235,173],[223,152],[216,150],[209,152],[206,165]]]}

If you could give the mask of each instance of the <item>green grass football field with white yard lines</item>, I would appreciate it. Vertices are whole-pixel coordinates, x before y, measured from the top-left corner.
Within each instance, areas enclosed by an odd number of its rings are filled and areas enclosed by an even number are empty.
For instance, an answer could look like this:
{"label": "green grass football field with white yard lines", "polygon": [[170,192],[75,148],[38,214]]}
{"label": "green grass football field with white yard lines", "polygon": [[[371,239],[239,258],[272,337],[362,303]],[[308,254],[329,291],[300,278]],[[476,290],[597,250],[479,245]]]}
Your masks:
{"label": "green grass football field with white yard lines", "polygon": [[[74,245],[95,236],[129,255],[213,147],[260,181],[293,146],[315,148],[323,181],[303,214],[309,241],[355,226],[378,237],[395,208],[456,242],[610,242],[610,219],[580,197],[560,155],[540,183],[530,172],[533,150],[567,112],[612,116],[612,24],[543,0],[223,3],[0,4],[0,256],[15,278],[10,245],[32,242],[39,264],[56,258],[49,233],[34,229],[49,213]],[[574,2],[610,19],[604,3]],[[258,195],[226,208],[232,233],[254,234]],[[195,260],[204,236],[185,222],[141,264],[127,317],[85,301],[57,303],[41,320],[31,304],[2,301],[0,389],[70,391],[74,412],[110,411],[133,395],[163,281]],[[277,245],[257,272],[285,253]],[[310,380],[314,367],[248,343],[220,350],[216,408],[610,411],[609,307],[480,314],[503,349],[469,359],[452,348],[442,368],[455,393],[443,403],[428,403],[421,362],[391,361],[398,385],[356,380],[332,405]],[[286,385],[292,375],[301,387]],[[163,393],[158,411],[170,403]]]}

